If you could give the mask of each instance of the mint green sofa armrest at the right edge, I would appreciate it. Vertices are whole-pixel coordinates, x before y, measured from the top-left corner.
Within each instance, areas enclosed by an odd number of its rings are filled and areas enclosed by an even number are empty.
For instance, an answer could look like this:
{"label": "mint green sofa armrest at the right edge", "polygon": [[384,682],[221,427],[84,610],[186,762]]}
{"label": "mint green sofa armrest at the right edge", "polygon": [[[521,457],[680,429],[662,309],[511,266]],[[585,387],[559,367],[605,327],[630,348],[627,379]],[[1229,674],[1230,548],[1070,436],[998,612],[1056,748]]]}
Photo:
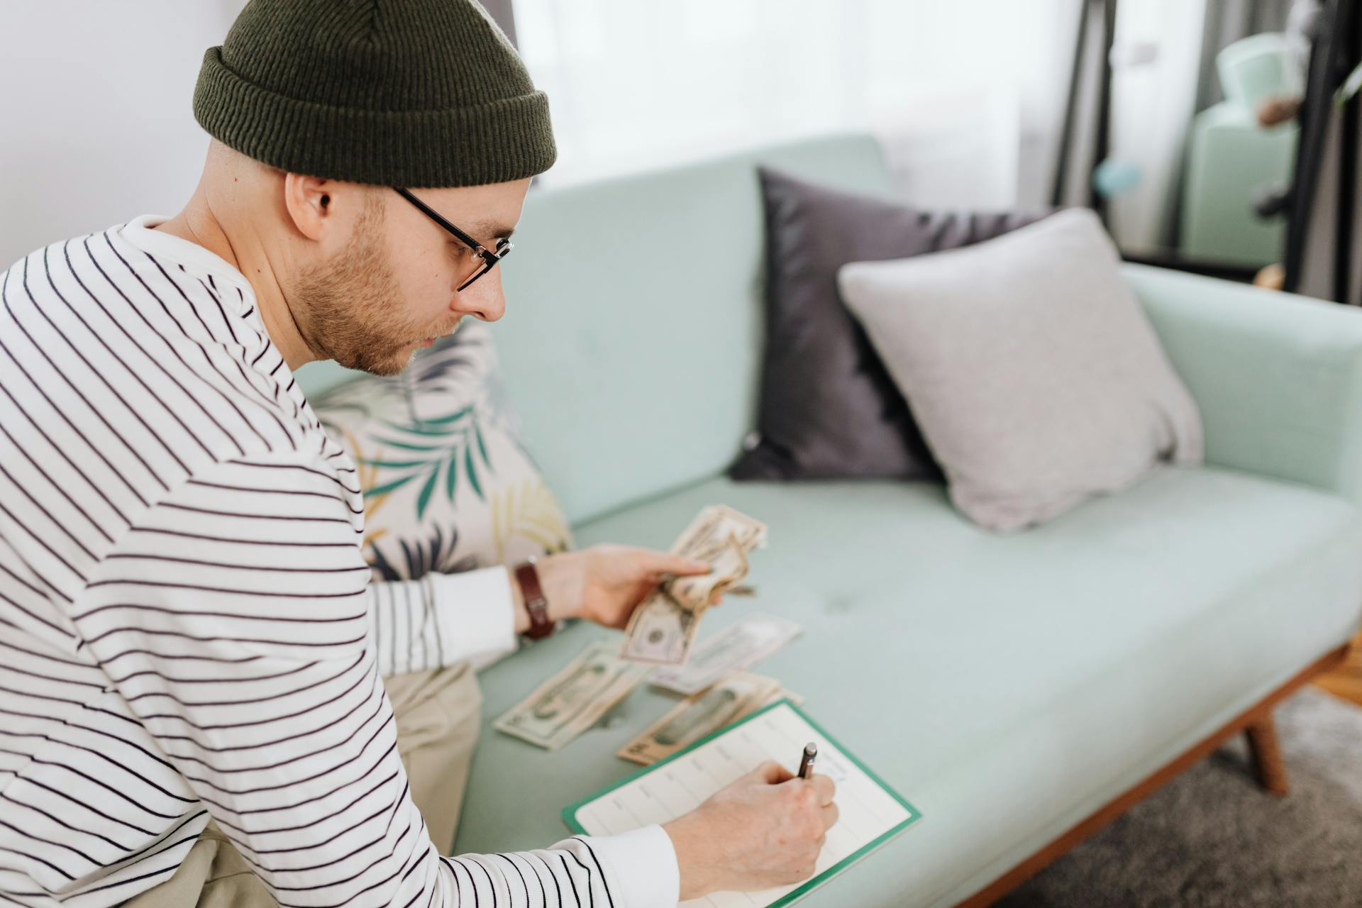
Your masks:
{"label": "mint green sofa armrest at the right edge", "polygon": [[1362,504],[1362,310],[1122,265],[1201,410],[1208,463]]}

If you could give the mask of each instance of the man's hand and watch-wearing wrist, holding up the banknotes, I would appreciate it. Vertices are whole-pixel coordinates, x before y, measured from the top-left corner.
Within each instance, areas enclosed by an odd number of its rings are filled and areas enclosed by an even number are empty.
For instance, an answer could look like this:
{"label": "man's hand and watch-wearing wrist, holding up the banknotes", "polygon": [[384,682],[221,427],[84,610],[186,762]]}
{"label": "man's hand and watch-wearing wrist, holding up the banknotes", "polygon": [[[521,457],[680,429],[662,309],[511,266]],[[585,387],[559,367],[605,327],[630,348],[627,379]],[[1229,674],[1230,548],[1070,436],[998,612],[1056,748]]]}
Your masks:
{"label": "man's hand and watch-wearing wrist, holding up the banknotes", "polygon": [[[586,618],[605,628],[622,629],[633,610],[667,577],[695,577],[710,573],[710,565],[635,546],[599,545],[580,551],[564,551],[541,558],[535,565],[549,618]],[[512,573],[515,629],[524,633],[530,615]],[[718,604],[722,595],[711,598]]]}

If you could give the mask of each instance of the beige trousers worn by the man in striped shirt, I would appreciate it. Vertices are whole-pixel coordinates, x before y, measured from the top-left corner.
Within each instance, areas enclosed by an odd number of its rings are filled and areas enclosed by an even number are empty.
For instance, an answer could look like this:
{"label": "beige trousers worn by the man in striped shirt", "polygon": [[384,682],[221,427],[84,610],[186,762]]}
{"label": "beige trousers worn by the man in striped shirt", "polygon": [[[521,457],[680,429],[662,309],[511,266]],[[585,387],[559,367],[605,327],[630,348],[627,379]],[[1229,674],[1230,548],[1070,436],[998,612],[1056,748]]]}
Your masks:
{"label": "beige trousers worn by the man in striped shirt", "polygon": [[[398,717],[398,753],[407,768],[411,799],[430,840],[448,854],[463,806],[473,746],[478,742],[482,693],[464,663],[452,668],[384,678]],[[133,896],[123,908],[275,908],[274,896],[215,822],[170,879]]]}

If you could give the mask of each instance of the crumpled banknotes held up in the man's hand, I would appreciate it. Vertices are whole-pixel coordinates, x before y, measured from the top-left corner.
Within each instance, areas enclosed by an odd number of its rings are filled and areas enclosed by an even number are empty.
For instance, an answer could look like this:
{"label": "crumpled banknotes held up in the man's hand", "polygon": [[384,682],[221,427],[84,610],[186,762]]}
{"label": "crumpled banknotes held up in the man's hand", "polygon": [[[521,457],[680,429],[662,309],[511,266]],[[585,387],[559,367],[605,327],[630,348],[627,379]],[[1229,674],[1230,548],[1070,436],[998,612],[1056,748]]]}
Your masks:
{"label": "crumpled banknotes held up in the man's hand", "polygon": [[684,663],[711,599],[746,577],[748,553],[765,538],[764,523],[733,508],[710,505],[700,510],[671,546],[671,554],[704,561],[711,572],[661,583],[629,617],[620,656],[652,664]]}

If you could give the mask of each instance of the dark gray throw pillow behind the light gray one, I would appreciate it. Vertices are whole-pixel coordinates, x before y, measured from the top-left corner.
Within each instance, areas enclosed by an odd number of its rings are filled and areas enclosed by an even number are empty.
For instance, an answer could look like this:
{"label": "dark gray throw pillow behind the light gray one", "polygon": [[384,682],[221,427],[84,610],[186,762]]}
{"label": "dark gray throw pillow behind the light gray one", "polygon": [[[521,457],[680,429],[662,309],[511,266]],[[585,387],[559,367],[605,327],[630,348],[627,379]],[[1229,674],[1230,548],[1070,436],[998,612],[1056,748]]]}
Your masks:
{"label": "dark gray throw pillow behind the light gray one", "polygon": [[1047,212],[923,211],[757,172],[767,223],[765,359],[757,434],[729,475],[940,479],[903,395],[842,305],[838,270],[967,246]]}

